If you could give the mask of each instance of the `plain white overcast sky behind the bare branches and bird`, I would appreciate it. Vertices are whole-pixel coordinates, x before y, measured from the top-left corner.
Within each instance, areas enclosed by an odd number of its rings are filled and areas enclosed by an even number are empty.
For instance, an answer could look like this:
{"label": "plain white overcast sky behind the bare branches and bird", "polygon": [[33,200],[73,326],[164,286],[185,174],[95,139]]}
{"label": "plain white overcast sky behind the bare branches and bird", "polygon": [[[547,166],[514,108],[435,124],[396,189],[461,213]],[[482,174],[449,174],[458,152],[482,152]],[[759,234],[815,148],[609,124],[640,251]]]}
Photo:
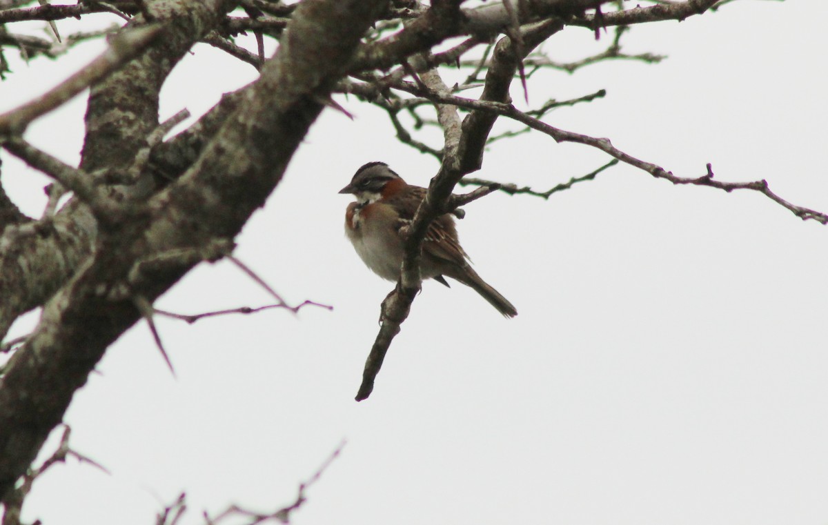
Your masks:
{"label": "plain white overcast sky behind the bare branches and bird", "polygon": [[[712,162],[722,180],[764,178],[783,198],[828,211],[826,17],[826,2],[745,0],[635,27],[627,51],[670,58],[539,74],[530,99],[607,89],[546,122],[610,137],[676,175],[700,176]],[[56,83],[53,66],[66,75],[99,49],[79,48],[67,66],[16,65],[0,109]],[[546,44],[556,58],[592,49],[591,32],[577,28]],[[201,113],[252,73],[199,46],[172,75],[162,117]],[[513,96],[522,101],[517,84]],[[83,102],[27,137],[76,161]],[[436,161],[395,142],[382,114],[341,102],[358,118],[324,113],[237,251],[291,302],[335,310],[158,319],[177,379],[137,325],[66,418],[73,446],[112,475],[56,467],[24,518],[147,525],[181,490],[184,523],[229,503],[273,510],[347,439],[296,525],[828,522],[824,227],[761,195],[673,186],[621,166],[549,201],[491,195],[467,207],[460,235],[520,314],[505,320],[474,291],[427,282],[372,397],[357,403],[392,284],[344,238],[348,198],[336,192],[367,161],[419,185]],[[2,160],[3,184],[37,213],[45,180]],[[545,190],[607,160],[523,136],[498,142],[476,175]],[[267,302],[221,262],[157,306]],[[20,323],[12,336],[25,331]]]}

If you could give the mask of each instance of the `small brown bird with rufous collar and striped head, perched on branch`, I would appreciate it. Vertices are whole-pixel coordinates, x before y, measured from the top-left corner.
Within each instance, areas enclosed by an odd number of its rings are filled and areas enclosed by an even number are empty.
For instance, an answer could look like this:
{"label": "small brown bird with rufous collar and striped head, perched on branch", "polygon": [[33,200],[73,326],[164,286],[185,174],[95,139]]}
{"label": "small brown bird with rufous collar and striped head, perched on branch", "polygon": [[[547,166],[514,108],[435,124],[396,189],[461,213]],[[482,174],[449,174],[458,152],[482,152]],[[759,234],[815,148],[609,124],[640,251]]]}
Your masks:
{"label": "small brown bird with rufous collar and striped head, perched on branch", "polygon": [[[404,254],[400,229],[411,224],[426,188],[407,184],[388,164],[374,161],[360,167],[339,193],[356,197],[345,211],[345,235],[359,258],[379,277],[397,281]],[[469,265],[450,214],[431,222],[422,243],[420,273],[423,280],[435,279],[446,287],[444,277],[451,277],[477,291],[504,316],[517,315],[512,303]]]}

